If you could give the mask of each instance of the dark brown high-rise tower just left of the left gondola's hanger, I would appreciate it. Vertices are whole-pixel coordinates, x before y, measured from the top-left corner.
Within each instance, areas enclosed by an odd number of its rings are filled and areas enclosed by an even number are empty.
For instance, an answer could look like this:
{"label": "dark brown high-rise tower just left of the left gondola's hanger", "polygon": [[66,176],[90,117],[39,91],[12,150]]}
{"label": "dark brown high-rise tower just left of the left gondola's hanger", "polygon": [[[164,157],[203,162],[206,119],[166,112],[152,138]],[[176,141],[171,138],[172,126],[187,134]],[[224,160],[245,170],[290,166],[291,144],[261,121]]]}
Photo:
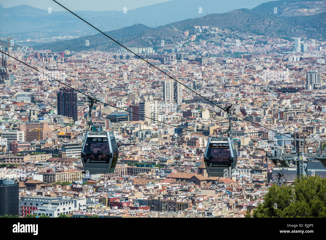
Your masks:
{"label": "dark brown high-rise tower just left of the left gondola's hanger", "polygon": [[57,100],[58,115],[72,117],[77,121],[77,92],[71,88],[62,88],[57,92]]}

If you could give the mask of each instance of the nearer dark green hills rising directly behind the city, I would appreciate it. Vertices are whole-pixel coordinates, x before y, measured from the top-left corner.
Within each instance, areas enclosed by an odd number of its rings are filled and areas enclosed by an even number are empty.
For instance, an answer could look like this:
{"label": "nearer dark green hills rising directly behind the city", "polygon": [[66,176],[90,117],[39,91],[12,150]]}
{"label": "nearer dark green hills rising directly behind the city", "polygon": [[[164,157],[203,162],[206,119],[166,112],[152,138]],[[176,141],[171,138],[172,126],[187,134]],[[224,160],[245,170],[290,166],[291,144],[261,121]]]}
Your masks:
{"label": "nearer dark green hills rising directly behind the city", "polygon": [[[223,29],[230,30],[232,33],[248,35],[267,35],[271,37],[301,37],[314,38],[317,40],[326,39],[326,28],[323,24],[326,19],[326,13],[311,16],[294,16],[291,18],[280,17],[277,14],[257,14],[249,9],[236,9],[223,14],[209,14],[201,18],[186,19],[173,22],[156,28],[143,29],[144,31],[129,31],[125,38],[119,38],[118,30],[106,32],[111,38],[118,40],[126,47],[153,47],[161,48],[161,40],[165,41],[166,48],[172,47],[176,41],[186,40],[183,32],[189,31],[189,35],[195,34],[194,25],[209,25],[222,29],[221,37],[227,37]],[[135,26],[135,25],[134,25]],[[134,26],[131,26],[132,29]],[[173,29],[171,28],[173,26]],[[305,26],[309,26],[305,27]],[[120,31],[126,31],[122,28]],[[207,38],[198,36],[201,39],[210,40],[210,34]],[[214,38],[214,36],[211,36]],[[234,37],[234,36],[233,36]],[[90,41],[89,47],[84,47],[84,40]],[[70,42],[67,42],[70,41]],[[55,43],[33,46],[36,49],[52,49],[53,51],[63,51],[68,48],[71,51],[81,50],[101,50],[112,51],[118,45],[102,34],[85,36],[77,39],[59,41]],[[70,45],[69,45],[69,44]],[[67,45],[68,44],[68,45]],[[73,46],[73,47],[72,47]]]}

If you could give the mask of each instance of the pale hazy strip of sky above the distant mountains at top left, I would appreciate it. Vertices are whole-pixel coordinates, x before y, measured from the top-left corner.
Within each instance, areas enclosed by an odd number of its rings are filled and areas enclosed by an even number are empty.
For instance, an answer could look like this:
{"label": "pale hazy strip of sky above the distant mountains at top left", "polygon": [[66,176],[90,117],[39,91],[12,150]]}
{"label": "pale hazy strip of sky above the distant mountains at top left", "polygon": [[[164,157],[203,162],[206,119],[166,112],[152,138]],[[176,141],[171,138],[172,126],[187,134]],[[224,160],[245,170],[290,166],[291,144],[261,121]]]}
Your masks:
{"label": "pale hazy strip of sky above the distant mountains at top left", "polygon": [[[72,11],[92,10],[92,11],[122,11],[124,7],[132,10],[138,7],[153,5],[156,3],[168,2],[170,0],[56,0]],[[52,11],[65,10],[52,0],[0,0],[3,7],[14,7],[19,5],[29,5],[40,9],[52,7]]]}

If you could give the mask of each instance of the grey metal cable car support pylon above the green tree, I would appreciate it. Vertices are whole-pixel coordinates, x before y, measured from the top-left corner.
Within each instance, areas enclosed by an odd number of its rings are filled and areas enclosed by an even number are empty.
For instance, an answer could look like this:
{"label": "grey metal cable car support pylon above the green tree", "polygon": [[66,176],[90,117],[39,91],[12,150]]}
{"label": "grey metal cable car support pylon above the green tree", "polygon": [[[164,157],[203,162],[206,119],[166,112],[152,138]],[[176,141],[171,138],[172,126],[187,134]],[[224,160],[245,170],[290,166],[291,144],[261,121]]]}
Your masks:
{"label": "grey metal cable car support pylon above the green tree", "polygon": [[308,161],[318,160],[324,167],[326,167],[326,152],[322,149],[321,140],[316,153],[312,152],[312,149],[308,150],[308,153],[304,153],[304,141],[306,139],[296,139],[300,141],[299,152],[296,153],[296,147],[291,148],[291,153],[286,152],[285,142],[283,140],[282,147],[279,148],[277,143],[271,147],[271,153],[266,153],[266,157],[273,161],[275,166],[278,167],[289,167],[290,161],[297,162],[297,176],[308,175]]}

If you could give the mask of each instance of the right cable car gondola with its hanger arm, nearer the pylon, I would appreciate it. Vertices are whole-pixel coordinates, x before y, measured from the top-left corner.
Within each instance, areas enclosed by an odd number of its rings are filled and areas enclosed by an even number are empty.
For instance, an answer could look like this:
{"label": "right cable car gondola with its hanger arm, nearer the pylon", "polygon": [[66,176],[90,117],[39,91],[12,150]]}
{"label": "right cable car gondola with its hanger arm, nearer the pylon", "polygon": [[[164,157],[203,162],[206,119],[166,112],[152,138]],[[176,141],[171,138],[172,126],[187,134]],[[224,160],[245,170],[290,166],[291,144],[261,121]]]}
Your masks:
{"label": "right cable car gondola with its hanger arm, nearer the pylon", "polygon": [[[224,108],[229,117],[229,128],[220,134],[220,137],[208,139],[204,162],[208,177],[231,177],[237,165],[237,151],[231,138],[231,105]],[[228,137],[223,137],[227,133]]]}

